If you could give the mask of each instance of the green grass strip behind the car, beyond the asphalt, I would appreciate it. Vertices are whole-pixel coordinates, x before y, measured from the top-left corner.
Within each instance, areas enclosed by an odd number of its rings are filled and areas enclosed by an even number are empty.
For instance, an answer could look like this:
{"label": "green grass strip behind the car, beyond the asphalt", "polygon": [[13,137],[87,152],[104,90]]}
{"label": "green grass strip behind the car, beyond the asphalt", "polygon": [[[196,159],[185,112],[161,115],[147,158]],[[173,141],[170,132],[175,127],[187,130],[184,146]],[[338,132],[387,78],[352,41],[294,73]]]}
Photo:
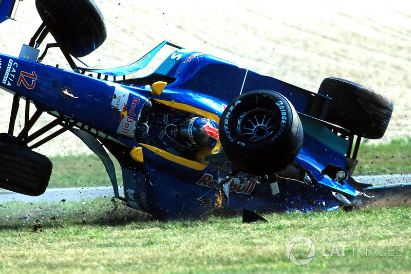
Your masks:
{"label": "green grass strip behind the car, beyond the asphalt", "polygon": [[[411,163],[411,139],[399,139],[386,143],[365,142],[358,154],[359,164],[354,175],[409,173]],[[50,157],[53,172],[50,188],[110,186],[103,163],[95,154]],[[113,158],[119,185],[122,183],[120,167]]]}

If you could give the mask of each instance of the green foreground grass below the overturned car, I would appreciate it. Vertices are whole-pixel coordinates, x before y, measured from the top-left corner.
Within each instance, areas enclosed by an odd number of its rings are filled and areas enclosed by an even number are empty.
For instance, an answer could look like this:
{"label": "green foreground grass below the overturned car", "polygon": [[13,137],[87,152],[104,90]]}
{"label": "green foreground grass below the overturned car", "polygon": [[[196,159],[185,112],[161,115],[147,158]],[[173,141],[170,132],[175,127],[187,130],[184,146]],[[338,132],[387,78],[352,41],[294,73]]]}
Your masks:
{"label": "green foreground grass below the overturned car", "polygon": [[[240,217],[219,216],[165,222],[108,199],[7,203],[0,207],[0,272],[406,273],[411,269],[409,204],[264,217],[268,223],[242,224]],[[286,256],[288,242],[298,235],[315,245],[313,261],[304,266],[294,265]],[[346,246],[344,256],[342,246]],[[340,256],[335,252],[323,256],[335,248]],[[307,253],[305,245],[293,248],[296,258]]]}

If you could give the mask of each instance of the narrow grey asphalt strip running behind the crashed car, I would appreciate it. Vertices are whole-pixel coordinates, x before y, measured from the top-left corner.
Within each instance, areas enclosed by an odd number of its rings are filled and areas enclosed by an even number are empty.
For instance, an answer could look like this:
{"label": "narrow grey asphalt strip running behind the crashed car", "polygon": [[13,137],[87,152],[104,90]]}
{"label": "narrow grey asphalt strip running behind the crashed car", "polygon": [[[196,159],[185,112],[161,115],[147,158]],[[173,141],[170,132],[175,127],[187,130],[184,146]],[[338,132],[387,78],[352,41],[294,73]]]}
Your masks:
{"label": "narrow grey asphalt strip running behind the crashed car", "polygon": [[[411,182],[411,174],[394,174],[394,175],[371,175],[371,176],[356,176],[359,181],[372,185],[385,184],[405,184]],[[122,187],[119,187],[120,196],[124,196]],[[47,189],[41,196],[27,196],[11,191],[0,191],[0,205],[7,202],[23,202],[23,203],[52,203],[59,201],[82,201],[95,199],[99,197],[111,198],[114,197],[114,191],[111,186],[107,187],[89,187],[89,188],[55,188]]]}

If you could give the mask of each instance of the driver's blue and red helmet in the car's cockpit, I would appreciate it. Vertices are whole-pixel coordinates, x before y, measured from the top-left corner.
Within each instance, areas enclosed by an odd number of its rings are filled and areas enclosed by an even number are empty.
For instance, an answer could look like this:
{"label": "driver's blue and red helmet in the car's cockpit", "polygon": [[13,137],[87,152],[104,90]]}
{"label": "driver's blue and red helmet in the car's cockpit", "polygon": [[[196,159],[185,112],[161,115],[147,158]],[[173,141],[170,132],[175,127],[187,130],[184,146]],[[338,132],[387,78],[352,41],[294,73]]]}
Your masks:
{"label": "driver's blue and red helmet in the car's cockpit", "polygon": [[182,121],[177,132],[194,148],[212,147],[218,139],[218,124],[207,118],[194,117]]}

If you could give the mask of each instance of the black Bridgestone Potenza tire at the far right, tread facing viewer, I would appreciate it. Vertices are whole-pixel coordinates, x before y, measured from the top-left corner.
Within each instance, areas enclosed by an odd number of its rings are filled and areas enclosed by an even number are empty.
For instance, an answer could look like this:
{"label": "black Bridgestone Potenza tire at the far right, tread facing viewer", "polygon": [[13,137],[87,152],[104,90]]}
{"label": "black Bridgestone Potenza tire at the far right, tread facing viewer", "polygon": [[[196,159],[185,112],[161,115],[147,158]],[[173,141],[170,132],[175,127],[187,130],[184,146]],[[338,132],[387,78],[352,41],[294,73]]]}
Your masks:
{"label": "black Bridgestone Potenza tire at the far right, tread facing viewer", "polygon": [[394,109],[388,97],[340,78],[324,79],[318,93],[332,99],[327,122],[368,139],[384,136]]}

